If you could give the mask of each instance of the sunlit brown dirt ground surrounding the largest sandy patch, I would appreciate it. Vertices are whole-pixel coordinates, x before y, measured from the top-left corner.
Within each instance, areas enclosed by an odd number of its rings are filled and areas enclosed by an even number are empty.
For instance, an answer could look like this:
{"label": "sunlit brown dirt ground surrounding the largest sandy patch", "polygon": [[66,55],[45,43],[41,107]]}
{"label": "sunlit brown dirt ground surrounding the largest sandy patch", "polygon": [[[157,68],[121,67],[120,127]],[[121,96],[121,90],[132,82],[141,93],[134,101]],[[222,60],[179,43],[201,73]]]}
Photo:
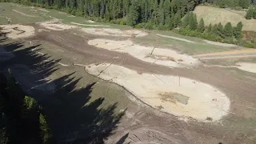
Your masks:
{"label": "sunlit brown dirt ground surrounding the largest sandy patch", "polygon": [[[96,82],[95,85],[102,86],[103,90],[101,93],[103,95],[104,93],[111,93],[113,90],[118,90],[118,94],[113,94],[116,96],[110,101],[123,105],[119,110],[125,111],[125,115],[112,132],[113,134],[110,134],[105,139],[106,143],[167,144],[207,142],[215,144],[222,142],[253,144],[256,142],[256,75],[254,73],[244,72],[237,68],[222,68],[218,66],[170,69],[166,66],[143,62],[132,57],[130,54],[98,49],[95,46],[87,44],[89,40],[94,38],[106,38],[103,36],[85,34],[80,30],[51,30],[50,34],[47,31],[41,31],[39,33],[38,30],[43,29],[42,26],[37,24],[31,24],[31,26],[35,28],[34,37],[26,38],[23,41],[26,43],[31,42],[29,46],[34,46],[31,50],[34,50],[39,55],[46,54],[49,58],[58,59],[58,62],[64,64],[59,65],[57,61],[53,62],[54,66],[56,65],[54,67],[56,70],[49,76],[53,82],[56,77],[59,78],[65,74],[75,72],[76,78],[89,78],[82,79],[83,81],[80,81],[76,87],[84,86],[85,83],[83,82],[88,81]],[[107,38],[114,40],[129,39]],[[42,44],[44,48],[38,48],[36,44]],[[13,65],[22,58],[26,62],[26,58],[22,54],[18,53],[14,58],[10,62],[5,62],[2,67]],[[166,114],[140,101],[121,86],[112,82],[102,81],[96,77],[88,77],[89,74],[84,70],[84,66],[98,62],[124,66],[140,74],[170,74],[207,83],[210,86],[218,88],[218,90],[230,98],[229,114],[217,122],[198,122],[194,118],[182,118],[172,114]],[[26,65],[33,67],[34,63],[30,60]],[[58,87],[58,82],[54,82],[54,84]],[[93,90],[92,93],[96,92]],[[31,94],[42,95],[37,90]],[[55,94],[48,94],[49,97],[47,98],[58,97],[60,94],[66,93],[56,92]],[[47,98],[46,103],[58,103],[57,101],[47,100]],[[50,110],[54,108],[54,106],[50,107],[50,104],[47,106],[49,106],[48,109]],[[56,114],[62,114],[58,110],[55,111]],[[56,119],[56,114],[51,115],[50,118]],[[51,123],[59,143],[70,143],[74,138],[82,137],[82,132],[79,130],[71,131],[73,133],[70,134],[70,131],[66,130],[70,126],[60,121],[62,120],[57,118],[57,120]],[[208,121],[210,121],[210,118]],[[62,130],[62,132],[59,133],[59,130]]]}

